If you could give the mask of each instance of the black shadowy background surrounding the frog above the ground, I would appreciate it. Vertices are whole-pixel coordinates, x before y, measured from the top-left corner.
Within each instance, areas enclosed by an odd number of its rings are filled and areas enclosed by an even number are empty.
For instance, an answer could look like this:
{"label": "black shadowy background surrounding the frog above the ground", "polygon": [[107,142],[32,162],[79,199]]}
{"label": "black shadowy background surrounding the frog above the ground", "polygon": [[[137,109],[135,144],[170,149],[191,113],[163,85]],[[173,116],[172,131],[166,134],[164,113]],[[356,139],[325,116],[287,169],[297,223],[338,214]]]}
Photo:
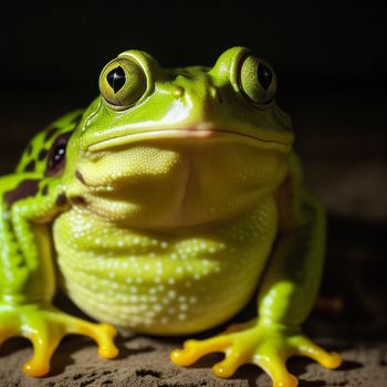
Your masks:
{"label": "black shadowy background surrounding the frog above the ground", "polygon": [[[98,93],[102,67],[139,49],[212,65],[245,45],[279,80],[307,185],[330,213],[327,295],[386,318],[386,1],[7,2],[0,15],[0,172],[34,133]],[[351,268],[351,269],[348,269]]]}

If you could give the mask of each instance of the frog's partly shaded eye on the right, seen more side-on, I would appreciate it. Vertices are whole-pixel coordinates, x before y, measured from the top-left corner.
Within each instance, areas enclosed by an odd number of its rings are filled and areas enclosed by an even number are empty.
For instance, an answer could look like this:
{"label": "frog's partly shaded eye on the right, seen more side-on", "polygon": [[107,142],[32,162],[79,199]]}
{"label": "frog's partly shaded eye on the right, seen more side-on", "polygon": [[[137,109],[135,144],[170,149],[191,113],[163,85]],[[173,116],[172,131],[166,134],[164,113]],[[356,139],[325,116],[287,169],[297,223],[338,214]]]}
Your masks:
{"label": "frog's partly shaded eye on the right, seen more side-on", "polygon": [[253,104],[268,105],[274,98],[276,77],[269,64],[250,54],[240,65],[239,87]]}

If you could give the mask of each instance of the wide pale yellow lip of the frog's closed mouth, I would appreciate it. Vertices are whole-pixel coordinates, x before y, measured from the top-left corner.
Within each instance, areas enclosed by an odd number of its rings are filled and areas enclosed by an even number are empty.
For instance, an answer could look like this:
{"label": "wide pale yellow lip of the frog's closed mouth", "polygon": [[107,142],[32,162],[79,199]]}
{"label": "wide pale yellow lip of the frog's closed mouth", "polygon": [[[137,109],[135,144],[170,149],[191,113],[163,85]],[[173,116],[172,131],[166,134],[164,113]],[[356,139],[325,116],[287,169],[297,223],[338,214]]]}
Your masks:
{"label": "wide pale yellow lip of the frog's closed mouth", "polygon": [[247,143],[259,147],[260,149],[276,150],[286,153],[291,149],[292,142],[278,140],[258,137],[250,133],[241,133],[228,128],[170,128],[170,129],[151,129],[140,133],[123,134],[116,137],[103,139],[91,144],[87,147],[90,153],[107,151],[113,148],[130,145],[138,142],[156,142],[156,140],[177,140],[177,142],[236,142]]}

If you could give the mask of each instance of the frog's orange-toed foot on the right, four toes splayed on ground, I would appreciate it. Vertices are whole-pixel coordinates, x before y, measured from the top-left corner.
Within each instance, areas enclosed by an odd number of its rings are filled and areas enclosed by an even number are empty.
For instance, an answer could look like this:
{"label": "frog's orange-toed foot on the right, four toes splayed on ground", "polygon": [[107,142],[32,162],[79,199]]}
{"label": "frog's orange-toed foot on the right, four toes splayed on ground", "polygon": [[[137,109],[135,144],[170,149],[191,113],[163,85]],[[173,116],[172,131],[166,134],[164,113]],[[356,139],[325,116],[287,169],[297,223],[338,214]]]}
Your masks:
{"label": "frog's orange-toed foot on the right, four toes splayed on ground", "polygon": [[299,330],[284,327],[242,324],[227,330],[223,334],[203,341],[190,339],[182,349],[175,349],[171,360],[180,366],[188,366],[213,352],[223,352],[226,358],[212,367],[216,376],[228,378],[243,364],[255,364],[263,368],[274,387],[294,387],[297,378],[286,369],[291,356],[307,356],[326,368],[341,365],[341,357],[327,353],[313,344]]}

